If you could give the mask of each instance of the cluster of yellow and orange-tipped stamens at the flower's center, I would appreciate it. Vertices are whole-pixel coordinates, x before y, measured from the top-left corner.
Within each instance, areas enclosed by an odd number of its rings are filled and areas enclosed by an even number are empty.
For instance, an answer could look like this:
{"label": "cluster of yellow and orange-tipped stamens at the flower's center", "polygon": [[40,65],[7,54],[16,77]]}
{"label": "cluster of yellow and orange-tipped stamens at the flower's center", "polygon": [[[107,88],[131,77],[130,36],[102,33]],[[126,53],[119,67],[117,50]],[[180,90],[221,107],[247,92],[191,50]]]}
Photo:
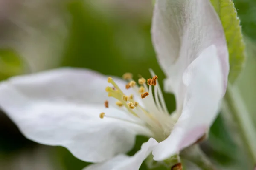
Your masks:
{"label": "cluster of yellow and orange-tipped stamens at the flower's center", "polygon": [[[132,74],[124,74],[123,78],[128,80],[125,88],[132,88],[135,92],[135,94],[131,94],[130,96],[125,95],[111,77],[108,77],[108,83],[111,83],[113,87],[106,87],[106,91],[108,92],[109,97],[117,99],[116,105],[119,107],[125,107],[126,113],[134,119],[134,122],[131,120],[121,119],[122,121],[140,124],[148,128],[153,134],[153,136],[149,137],[154,137],[154,139],[160,142],[169,136],[176,120],[172,118],[166,108],[163,94],[157,80],[158,77],[152,70],[151,75],[152,78],[147,81],[143,77],[140,77],[137,85],[137,83],[132,79]],[[141,101],[135,101],[134,95],[140,96]],[[108,108],[108,101],[105,101],[104,104],[105,107]],[[104,117],[120,119],[108,116],[105,113],[100,113],[100,118]],[[137,120],[139,120],[139,123]]]}

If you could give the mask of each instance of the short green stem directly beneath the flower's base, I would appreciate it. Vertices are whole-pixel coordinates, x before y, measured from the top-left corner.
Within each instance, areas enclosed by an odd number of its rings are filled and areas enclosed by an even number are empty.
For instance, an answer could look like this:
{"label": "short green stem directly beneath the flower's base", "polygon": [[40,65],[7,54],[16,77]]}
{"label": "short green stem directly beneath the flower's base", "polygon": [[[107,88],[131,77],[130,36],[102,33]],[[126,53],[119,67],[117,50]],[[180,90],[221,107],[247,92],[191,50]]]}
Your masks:
{"label": "short green stem directly beneath the flower's base", "polygon": [[201,170],[217,170],[198,144],[187,147],[181,152],[181,157],[197,165]]}

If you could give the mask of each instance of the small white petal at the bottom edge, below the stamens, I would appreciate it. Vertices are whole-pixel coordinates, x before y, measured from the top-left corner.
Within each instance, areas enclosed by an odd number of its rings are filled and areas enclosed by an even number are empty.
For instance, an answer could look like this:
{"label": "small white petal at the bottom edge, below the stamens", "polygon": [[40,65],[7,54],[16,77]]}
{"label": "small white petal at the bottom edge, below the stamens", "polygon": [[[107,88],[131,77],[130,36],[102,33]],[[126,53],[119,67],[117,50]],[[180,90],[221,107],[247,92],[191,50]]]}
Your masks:
{"label": "small white petal at the bottom edge, below the stamens", "polygon": [[142,145],[141,149],[134,156],[119,155],[104,163],[92,164],[84,168],[84,170],[139,170],[142,162],[157,144],[158,142],[151,138]]}

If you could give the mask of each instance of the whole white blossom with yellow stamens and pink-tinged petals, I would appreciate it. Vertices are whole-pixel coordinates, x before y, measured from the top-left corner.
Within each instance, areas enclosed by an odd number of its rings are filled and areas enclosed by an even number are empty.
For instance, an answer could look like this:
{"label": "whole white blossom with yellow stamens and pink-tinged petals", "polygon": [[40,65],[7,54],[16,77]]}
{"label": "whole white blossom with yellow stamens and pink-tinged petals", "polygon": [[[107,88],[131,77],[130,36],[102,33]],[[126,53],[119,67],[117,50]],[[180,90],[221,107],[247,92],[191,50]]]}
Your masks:
{"label": "whole white blossom with yellow stamens and pink-tinged petals", "polygon": [[[151,153],[164,160],[196,142],[214,121],[226,89],[228,52],[208,0],[157,0],[152,37],[166,91],[176,98],[171,115],[153,71],[153,82],[148,87],[140,79],[141,88],[130,75],[127,84],[83,69],[14,77],[0,84],[0,106],[27,138],[98,163],[86,170],[137,170]],[[150,139],[125,156],[138,134]]]}

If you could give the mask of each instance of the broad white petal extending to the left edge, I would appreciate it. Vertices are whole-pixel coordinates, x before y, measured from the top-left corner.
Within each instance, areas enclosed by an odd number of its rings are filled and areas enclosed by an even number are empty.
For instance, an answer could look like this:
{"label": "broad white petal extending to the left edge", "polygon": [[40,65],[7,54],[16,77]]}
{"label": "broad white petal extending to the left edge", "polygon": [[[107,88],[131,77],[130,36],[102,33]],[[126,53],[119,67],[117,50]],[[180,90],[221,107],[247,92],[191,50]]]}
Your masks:
{"label": "broad white petal extending to the left edge", "polygon": [[135,136],[146,133],[137,122],[99,118],[105,112],[129,119],[117,108],[104,107],[106,80],[82,69],[15,77],[0,84],[0,107],[27,138],[67,147],[84,161],[104,161],[127,152]]}

